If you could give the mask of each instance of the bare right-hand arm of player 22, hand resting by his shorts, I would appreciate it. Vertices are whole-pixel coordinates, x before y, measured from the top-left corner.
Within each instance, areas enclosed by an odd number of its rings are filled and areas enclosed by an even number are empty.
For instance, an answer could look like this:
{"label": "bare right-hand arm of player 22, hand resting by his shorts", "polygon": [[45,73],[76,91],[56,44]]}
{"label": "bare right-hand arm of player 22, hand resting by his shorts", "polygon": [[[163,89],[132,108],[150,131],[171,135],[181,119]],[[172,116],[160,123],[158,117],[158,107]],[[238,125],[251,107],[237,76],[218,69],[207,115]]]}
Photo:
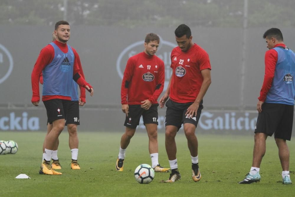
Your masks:
{"label": "bare right-hand arm of player 22, hand resting by his shorts", "polygon": [[211,70],[210,69],[201,70],[201,74],[202,74],[204,80],[201,85],[200,92],[199,92],[198,96],[196,97],[196,100],[194,101],[193,104],[191,104],[191,106],[189,106],[189,108],[186,111],[185,115],[188,115],[188,117],[193,117],[193,116],[197,115],[199,104],[200,104],[201,100],[203,99],[203,97],[205,96],[205,94],[211,84]]}

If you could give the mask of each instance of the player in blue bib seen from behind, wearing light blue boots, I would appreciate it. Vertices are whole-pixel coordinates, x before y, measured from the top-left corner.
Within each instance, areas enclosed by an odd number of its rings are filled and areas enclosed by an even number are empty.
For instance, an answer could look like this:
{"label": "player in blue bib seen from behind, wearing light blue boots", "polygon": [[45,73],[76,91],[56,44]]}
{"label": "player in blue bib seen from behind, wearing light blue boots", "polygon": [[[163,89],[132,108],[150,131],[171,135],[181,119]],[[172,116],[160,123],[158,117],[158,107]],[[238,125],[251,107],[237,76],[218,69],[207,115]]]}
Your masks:
{"label": "player in blue bib seen from behind, wearing light blue boots", "polygon": [[292,184],[289,171],[290,152],[286,140],[291,140],[294,117],[295,53],[286,47],[278,28],[263,34],[269,49],[265,53],[265,75],[258,97],[258,118],[255,126],[253,160],[250,172],[240,184],[259,182],[260,164],[266,152],[266,139],[274,134],[282,166],[283,184]]}

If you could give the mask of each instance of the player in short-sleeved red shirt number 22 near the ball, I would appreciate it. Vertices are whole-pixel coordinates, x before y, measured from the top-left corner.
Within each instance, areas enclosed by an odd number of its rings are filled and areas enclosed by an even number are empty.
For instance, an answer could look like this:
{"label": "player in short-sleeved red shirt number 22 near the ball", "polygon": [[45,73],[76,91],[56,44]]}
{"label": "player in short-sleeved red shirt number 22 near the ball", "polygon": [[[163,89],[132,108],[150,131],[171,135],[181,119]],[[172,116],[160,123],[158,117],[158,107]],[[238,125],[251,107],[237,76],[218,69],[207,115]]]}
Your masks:
{"label": "player in short-sleeved red shirt number 22 near the ball", "polygon": [[198,141],[195,130],[203,109],[203,97],[211,84],[211,65],[207,52],[192,42],[191,30],[187,25],[179,25],[175,30],[178,47],[171,52],[173,69],[165,95],[160,99],[160,107],[166,102],[165,146],[171,174],[164,183],[172,183],[181,178],[177,159],[175,136],[183,124],[192,162],[192,179],[201,179],[198,162]]}

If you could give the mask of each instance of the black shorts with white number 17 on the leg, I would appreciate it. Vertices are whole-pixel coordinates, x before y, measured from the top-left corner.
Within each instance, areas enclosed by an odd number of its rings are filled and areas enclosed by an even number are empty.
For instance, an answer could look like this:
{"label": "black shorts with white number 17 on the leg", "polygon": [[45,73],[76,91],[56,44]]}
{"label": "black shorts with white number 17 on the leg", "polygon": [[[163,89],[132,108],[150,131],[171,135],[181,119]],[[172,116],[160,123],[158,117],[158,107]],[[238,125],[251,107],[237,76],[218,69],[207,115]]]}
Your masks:
{"label": "black shorts with white number 17 on the leg", "polygon": [[129,105],[129,113],[125,118],[124,126],[129,128],[136,128],[139,125],[140,116],[142,116],[143,123],[157,124],[158,125],[158,106],[159,104],[152,104],[150,109],[145,110],[140,105]]}

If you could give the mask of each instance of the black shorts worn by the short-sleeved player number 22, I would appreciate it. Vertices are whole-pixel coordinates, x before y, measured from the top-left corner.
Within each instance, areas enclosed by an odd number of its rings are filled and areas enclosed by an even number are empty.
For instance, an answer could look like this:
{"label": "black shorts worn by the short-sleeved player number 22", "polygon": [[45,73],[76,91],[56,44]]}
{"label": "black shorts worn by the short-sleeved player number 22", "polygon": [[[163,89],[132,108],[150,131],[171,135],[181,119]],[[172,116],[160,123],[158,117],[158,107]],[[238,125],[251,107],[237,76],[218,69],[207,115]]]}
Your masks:
{"label": "black shorts worn by the short-sleeved player number 22", "polygon": [[200,115],[203,109],[203,100],[201,100],[200,102],[199,108],[197,110],[197,115],[193,116],[192,118],[185,115],[187,109],[189,108],[191,104],[193,104],[193,102],[179,103],[169,99],[166,102],[167,110],[166,110],[165,126],[168,126],[168,125],[176,126],[179,130],[179,128],[181,128],[181,124],[191,123],[197,127],[199,119],[200,119]]}

